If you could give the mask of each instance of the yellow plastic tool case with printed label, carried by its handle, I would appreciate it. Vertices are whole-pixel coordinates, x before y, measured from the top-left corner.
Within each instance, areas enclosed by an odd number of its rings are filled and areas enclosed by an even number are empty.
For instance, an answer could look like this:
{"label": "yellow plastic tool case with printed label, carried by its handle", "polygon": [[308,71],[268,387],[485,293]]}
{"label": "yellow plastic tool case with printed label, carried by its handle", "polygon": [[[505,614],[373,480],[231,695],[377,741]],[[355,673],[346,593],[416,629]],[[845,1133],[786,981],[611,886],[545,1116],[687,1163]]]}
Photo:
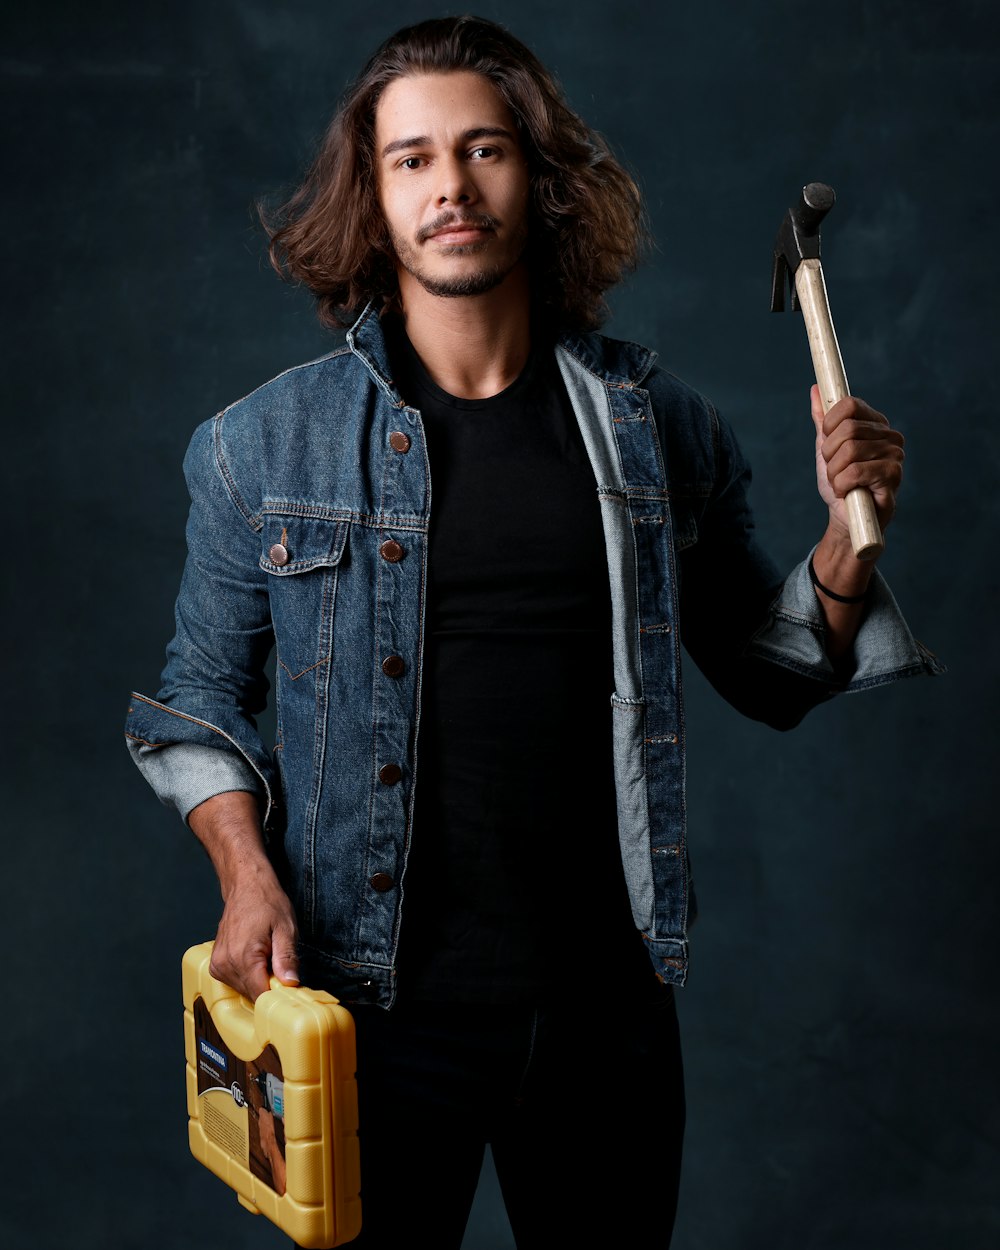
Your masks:
{"label": "yellow plastic tool case with printed label, carried by its handle", "polygon": [[191,1152],[292,1241],[336,1246],[361,1229],[354,1020],[330,994],[271,988],[250,1002],[184,956]]}

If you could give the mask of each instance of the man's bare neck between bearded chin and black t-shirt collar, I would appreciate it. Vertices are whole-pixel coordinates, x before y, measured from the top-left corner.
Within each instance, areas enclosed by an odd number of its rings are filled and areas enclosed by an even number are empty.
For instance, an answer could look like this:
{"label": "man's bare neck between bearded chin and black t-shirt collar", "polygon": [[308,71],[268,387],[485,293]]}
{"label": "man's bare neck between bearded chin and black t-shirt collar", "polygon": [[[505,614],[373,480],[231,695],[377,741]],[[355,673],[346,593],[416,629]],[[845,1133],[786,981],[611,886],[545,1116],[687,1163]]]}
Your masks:
{"label": "man's bare neck between bearded chin and black t-shirt collar", "polygon": [[531,349],[524,265],[484,295],[431,295],[405,270],[400,302],[406,336],[434,381],[458,399],[488,399],[514,382]]}

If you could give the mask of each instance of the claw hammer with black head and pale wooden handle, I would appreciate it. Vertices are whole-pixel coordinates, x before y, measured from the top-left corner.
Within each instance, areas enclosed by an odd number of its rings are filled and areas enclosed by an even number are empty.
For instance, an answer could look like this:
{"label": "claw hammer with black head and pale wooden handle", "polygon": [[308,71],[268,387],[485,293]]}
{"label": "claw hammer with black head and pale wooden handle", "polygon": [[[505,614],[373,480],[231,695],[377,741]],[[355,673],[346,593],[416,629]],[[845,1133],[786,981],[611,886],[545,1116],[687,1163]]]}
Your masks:
{"label": "claw hammer with black head and pale wooden handle", "polygon": [[[820,265],[820,221],[834,206],[835,199],[834,189],[825,182],[810,182],[802,188],[799,202],[785,214],[778,231],[771,274],[771,312],[782,312],[785,309],[788,275],[791,306],[801,309],[805,318],[824,412],[850,394]],[[854,554],[859,560],[878,559],[885,540],[870,491],[864,486],[855,486],[844,502]]]}

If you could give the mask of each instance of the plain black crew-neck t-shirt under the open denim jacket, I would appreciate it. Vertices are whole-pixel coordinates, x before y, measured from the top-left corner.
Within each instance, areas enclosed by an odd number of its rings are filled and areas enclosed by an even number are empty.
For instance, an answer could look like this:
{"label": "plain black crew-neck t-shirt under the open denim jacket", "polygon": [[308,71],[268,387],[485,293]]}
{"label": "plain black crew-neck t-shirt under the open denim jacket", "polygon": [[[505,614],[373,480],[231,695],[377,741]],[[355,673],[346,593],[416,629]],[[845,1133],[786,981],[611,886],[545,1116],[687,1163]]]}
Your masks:
{"label": "plain black crew-neck t-shirt under the open denim jacket", "polygon": [[554,348],[466,400],[435,385],[399,321],[386,340],[431,478],[400,995],[518,1002],[649,981],[618,848],[604,531]]}

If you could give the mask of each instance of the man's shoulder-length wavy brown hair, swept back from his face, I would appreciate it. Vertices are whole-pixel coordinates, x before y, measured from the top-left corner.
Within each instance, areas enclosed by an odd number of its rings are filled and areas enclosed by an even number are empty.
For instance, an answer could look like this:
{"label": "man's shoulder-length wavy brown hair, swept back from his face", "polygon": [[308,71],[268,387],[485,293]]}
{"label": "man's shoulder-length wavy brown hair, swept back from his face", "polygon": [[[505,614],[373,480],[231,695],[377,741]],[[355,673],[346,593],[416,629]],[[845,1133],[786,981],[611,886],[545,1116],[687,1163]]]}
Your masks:
{"label": "man's shoulder-length wavy brown hair, swept back from his face", "polygon": [[312,291],[328,326],[350,325],[369,300],[395,300],[375,109],[398,78],[462,70],[494,84],[518,126],[531,178],[534,299],[562,329],[595,329],[608,315],[605,292],[635,268],[648,241],[639,188],[568,108],[539,59],[482,18],[421,21],[382,44],[348,89],[301,185],[274,212],[260,208],[271,264]]}

